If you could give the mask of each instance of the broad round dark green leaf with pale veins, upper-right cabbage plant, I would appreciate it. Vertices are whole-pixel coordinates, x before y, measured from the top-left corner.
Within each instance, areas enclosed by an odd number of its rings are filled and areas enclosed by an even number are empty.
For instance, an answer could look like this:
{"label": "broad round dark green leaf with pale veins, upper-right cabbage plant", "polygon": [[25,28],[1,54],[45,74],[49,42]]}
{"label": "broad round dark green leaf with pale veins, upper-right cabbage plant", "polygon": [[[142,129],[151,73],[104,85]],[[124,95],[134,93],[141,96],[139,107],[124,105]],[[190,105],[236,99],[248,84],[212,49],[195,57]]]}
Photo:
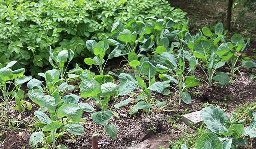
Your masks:
{"label": "broad round dark green leaf with pale veins, upper-right cabbage plant", "polygon": [[194,49],[198,54],[206,55],[209,49],[211,48],[211,43],[208,39],[204,37],[197,38],[195,40]]}

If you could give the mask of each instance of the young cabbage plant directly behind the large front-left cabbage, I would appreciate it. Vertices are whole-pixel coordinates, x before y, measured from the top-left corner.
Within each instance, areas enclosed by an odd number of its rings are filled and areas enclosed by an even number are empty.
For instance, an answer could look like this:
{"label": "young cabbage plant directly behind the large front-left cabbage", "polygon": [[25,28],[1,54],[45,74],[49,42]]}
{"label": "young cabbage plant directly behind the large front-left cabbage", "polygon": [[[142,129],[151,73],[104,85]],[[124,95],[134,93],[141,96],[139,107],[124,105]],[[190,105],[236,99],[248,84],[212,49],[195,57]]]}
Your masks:
{"label": "young cabbage plant directly behind the large front-left cabbage", "polygon": [[[67,82],[63,82],[64,78],[60,77],[60,71],[56,69],[48,70],[45,73],[38,73],[39,76],[44,77],[46,86],[43,85],[43,82],[35,78],[31,79],[27,83],[27,87],[32,89],[38,89],[40,91],[46,91],[48,95],[52,95],[55,92],[63,91],[72,91],[74,90],[72,85],[68,85]],[[41,87],[43,86],[43,87]]]}

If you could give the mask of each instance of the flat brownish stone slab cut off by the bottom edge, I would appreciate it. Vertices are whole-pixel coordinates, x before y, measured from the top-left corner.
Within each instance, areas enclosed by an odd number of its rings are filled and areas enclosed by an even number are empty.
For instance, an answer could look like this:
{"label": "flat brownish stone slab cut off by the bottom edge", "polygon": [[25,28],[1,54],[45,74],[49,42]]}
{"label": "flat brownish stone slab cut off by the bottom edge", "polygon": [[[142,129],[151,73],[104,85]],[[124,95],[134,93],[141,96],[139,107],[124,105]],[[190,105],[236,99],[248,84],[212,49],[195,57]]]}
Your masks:
{"label": "flat brownish stone slab cut off by the bottom edge", "polygon": [[170,148],[169,141],[170,135],[158,133],[128,149],[158,149],[158,147]]}

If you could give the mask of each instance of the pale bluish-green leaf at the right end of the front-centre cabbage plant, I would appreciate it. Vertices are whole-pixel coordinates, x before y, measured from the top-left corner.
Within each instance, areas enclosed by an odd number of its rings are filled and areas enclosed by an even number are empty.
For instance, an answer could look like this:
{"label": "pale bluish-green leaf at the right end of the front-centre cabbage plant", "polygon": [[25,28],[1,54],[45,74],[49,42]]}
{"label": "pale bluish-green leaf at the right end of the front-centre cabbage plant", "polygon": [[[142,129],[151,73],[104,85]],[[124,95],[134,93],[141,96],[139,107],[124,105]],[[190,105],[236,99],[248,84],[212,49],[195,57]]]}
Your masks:
{"label": "pale bluish-green leaf at the right end of the front-centre cabbage plant", "polygon": [[117,87],[117,93],[118,95],[126,95],[133,91],[136,88],[136,85],[132,81],[126,81],[124,83],[121,83]]}

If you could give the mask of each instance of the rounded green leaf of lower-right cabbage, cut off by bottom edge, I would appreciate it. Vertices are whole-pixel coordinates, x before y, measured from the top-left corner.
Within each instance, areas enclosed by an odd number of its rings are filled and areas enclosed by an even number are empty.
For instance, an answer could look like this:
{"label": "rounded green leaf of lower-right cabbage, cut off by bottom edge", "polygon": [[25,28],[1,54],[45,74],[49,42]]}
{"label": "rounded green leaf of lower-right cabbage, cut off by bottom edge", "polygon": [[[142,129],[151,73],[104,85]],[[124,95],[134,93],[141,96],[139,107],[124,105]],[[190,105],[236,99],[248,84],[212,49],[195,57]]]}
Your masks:
{"label": "rounded green leaf of lower-right cabbage, cut off by bottom edge", "polygon": [[204,133],[197,140],[197,149],[223,149],[222,143],[214,133]]}

